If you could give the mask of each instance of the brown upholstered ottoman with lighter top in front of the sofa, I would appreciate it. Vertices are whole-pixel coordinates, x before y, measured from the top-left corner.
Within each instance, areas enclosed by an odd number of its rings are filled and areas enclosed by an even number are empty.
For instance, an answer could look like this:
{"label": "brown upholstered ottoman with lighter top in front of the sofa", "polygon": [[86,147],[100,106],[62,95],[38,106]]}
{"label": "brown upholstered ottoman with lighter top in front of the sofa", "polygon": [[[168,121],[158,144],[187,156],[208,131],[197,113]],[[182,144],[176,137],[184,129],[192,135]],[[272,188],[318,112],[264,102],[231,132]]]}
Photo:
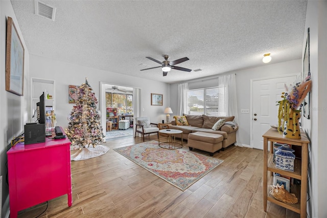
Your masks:
{"label": "brown upholstered ottoman with lighter top in front of the sofa", "polygon": [[197,148],[208,151],[213,156],[214,152],[221,149],[223,140],[224,137],[219,134],[195,132],[189,134],[188,146],[190,150]]}

